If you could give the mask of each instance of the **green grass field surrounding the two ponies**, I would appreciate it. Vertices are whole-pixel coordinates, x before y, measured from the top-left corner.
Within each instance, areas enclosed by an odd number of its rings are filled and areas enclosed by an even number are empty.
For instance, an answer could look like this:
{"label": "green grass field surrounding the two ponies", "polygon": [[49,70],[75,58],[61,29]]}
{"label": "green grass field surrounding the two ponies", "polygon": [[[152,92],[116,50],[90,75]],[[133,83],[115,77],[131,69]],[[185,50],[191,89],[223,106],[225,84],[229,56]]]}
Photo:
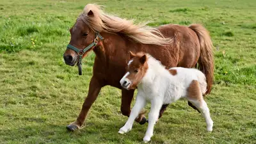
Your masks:
{"label": "green grass field surrounding the two ponies", "polygon": [[94,54],[63,62],[68,29],[87,3],[150,26],[200,23],[214,44],[214,87],[206,100],[214,127],[184,101],[169,106],[150,143],[256,143],[256,1],[26,1],[0,3],[0,143],[141,143],[146,125],[118,130],[120,90],[106,86],[86,120],[68,132],[88,92]]}

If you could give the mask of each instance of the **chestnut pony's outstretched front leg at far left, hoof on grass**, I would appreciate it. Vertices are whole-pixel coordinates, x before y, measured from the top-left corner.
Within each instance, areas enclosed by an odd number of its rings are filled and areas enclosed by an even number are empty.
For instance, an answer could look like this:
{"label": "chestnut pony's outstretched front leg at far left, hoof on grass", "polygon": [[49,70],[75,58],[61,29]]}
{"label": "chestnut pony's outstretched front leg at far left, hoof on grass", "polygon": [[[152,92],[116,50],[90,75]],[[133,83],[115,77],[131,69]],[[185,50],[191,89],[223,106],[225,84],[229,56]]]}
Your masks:
{"label": "chestnut pony's outstretched front leg at far left, hoof on grass", "polygon": [[91,108],[93,102],[97,99],[102,86],[104,85],[102,85],[102,83],[96,77],[92,77],[90,81],[88,96],[84,100],[81,112],[75,122],[67,125],[68,131],[76,131],[77,129],[81,128],[81,126],[84,124],[86,116],[88,115],[88,111]]}

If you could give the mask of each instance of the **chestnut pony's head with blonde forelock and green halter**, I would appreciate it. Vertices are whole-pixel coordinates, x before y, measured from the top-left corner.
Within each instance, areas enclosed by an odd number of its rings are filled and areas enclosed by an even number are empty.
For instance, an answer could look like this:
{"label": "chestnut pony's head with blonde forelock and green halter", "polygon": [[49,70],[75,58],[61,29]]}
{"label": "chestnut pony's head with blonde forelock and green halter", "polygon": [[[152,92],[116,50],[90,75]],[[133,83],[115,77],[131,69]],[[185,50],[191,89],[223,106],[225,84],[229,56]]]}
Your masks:
{"label": "chestnut pony's head with blonde forelock and green halter", "polygon": [[[84,58],[88,52],[101,44],[99,42],[101,36],[98,32],[102,31],[102,29],[99,29],[102,27],[98,25],[102,25],[102,20],[99,18],[99,13],[99,6],[87,4],[84,7],[83,13],[77,18],[74,26],[70,28],[71,38],[68,45],[71,46],[69,46],[69,49],[63,54],[67,65],[74,66],[79,58],[79,54]],[[92,24],[95,26],[92,27]]]}

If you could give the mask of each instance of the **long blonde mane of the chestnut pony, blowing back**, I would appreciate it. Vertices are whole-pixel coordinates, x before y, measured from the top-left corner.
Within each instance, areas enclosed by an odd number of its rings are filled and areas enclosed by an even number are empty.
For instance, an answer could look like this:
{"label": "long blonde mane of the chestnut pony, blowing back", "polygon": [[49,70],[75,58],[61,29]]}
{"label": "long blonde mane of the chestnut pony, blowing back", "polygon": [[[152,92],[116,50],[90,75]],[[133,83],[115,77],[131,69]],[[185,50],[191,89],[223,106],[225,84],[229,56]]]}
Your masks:
{"label": "long blonde mane of the chestnut pony, blowing back", "polygon": [[[88,15],[92,11],[93,15]],[[134,20],[121,19],[102,11],[102,6],[87,4],[77,20],[83,20],[93,31],[123,33],[131,40],[142,44],[167,45],[172,38],[164,38],[156,28],[146,26],[148,22],[134,24]]]}

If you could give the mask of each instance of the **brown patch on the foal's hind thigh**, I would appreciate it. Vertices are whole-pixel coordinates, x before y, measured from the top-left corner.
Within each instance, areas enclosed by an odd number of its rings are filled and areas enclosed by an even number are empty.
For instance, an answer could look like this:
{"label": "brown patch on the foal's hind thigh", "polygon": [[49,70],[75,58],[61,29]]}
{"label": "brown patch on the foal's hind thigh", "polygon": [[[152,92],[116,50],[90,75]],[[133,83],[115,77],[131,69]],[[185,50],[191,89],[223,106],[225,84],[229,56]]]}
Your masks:
{"label": "brown patch on the foal's hind thigh", "polygon": [[189,97],[189,99],[195,99],[195,100],[202,99],[202,93],[201,93],[200,84],[198,83],[198,81],[193,80],[189,84],[187,97]]}

